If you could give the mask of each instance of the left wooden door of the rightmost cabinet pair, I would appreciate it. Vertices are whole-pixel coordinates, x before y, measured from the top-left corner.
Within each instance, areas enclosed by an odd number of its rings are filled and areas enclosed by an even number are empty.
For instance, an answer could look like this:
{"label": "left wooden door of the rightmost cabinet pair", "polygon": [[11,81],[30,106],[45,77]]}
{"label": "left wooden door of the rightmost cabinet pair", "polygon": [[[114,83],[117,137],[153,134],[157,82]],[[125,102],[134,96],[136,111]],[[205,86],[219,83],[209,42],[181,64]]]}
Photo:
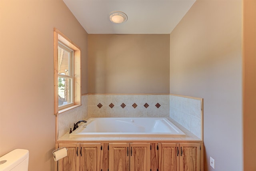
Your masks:
{"label": "left wooden door of the rightmost cabinet pair", "polygon": [[179,170],[179,145],[176,143],[159,143],[159,171]]}

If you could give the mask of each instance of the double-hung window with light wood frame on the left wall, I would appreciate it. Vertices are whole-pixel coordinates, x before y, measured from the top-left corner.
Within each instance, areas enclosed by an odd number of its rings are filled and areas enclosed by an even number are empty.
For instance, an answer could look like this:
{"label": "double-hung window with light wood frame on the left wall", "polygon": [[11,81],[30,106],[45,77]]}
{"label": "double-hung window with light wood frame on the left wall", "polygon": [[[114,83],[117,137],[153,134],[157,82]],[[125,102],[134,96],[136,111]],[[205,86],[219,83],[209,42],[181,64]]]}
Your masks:
{"label": "double-hung window with light wood frame on the left wall", "polygon": [[54,113],[81,102],[81,52],[71,40],[54,29]]}

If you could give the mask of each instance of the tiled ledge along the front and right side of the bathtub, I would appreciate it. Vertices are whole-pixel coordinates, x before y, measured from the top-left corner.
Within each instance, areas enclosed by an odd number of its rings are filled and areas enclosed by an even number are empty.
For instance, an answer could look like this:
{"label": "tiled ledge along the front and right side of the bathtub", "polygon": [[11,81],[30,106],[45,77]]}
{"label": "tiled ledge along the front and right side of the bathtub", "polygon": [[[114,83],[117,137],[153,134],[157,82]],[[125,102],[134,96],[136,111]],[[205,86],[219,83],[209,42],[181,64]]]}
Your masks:
{"label": "tiled ledge along the front and right side of the bathtub", "polygon": [[170,142],[170,141],[175,141],[175,142],[182,142],[182,143],[203,143],[203,140],[196,137],[196,135],[194,135],[193,133],[191,133],[190,131],[188,131],[186,128],[184,128],[183,126],[181,126],[179,123],[177,123],[176,121],[174,121],[173,119],[171,119],[170,117],[166,117],[167,119],[169,119],[170,121],[172,121],[172,123],[174,123],[174,125],[176,125],[180,130],[182,130],[186,135],[184,137],[138,137],[138,136],[134,136],[134,137],[125,137],[125,136],[108,136],[108,137],[69,137],[69,133],[67,132],[66,134],[64,134],[62,137],[60,137],[56,143],[82,143],[84,141],[90,141],[90,142],[96,142],[96,141],[102,141],[102,143],[108,143],[108,142],[113,142],[113,141],[118,141],[118,142]]}

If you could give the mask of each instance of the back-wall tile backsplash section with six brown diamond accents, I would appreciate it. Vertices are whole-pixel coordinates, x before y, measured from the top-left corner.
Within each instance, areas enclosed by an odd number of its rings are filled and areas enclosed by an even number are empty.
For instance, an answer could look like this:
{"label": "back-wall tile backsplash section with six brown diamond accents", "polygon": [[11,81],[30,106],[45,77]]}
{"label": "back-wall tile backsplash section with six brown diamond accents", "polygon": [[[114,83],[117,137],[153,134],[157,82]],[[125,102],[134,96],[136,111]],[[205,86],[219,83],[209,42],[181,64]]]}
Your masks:
{"label": "back-wall tile backsplash section with six brown diamond accents", "polygon": [[169,95],[88,95],[89,117],[168,117]]}

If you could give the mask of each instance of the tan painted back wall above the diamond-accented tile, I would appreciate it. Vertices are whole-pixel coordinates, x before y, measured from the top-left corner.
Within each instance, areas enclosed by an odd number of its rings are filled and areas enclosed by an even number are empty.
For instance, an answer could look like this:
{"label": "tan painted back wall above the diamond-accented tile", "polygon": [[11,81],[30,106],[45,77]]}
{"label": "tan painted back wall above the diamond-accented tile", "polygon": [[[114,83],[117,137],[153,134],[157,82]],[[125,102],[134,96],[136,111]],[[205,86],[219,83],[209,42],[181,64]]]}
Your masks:
{"label": "tan painted back wall above the diamond-accented tile", "polygon": [[88,93],[169,93],[169,34],[89,34]]}

